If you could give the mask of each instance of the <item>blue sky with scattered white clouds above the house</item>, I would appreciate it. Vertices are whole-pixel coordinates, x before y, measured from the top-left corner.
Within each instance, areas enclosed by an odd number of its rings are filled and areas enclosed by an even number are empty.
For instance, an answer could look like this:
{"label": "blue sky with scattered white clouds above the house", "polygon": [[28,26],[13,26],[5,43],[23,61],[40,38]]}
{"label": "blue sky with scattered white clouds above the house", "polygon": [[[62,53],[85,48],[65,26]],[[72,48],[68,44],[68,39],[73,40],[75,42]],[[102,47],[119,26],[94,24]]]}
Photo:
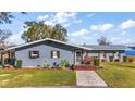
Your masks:
{"label": "blue sky with scattered white clouds above the house", "polygon": [[107,37],[113,45],[135,45],[135,13],[123,12],[27,12],[26,15],[12,13],[12,24],[1,24],[0,29],[10,29],[11,43],[20,45],[24,22],[44,21],[45,24],[60,23],[68,29],[68,39],[72,43],[97,45],[97,39]]}

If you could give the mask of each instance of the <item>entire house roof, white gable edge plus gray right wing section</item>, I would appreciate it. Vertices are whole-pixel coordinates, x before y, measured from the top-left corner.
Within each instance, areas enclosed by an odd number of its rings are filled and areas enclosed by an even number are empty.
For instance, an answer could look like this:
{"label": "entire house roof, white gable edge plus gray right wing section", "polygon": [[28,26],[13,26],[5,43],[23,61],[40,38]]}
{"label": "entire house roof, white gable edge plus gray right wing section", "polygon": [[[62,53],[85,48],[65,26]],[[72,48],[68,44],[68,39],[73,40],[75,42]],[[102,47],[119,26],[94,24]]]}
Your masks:
{"label": "entire house roof, white gable edge plus gray right wing section", "polygon": [[85,46],[78,46],[78,45],[74,45],[74,43],[70,43],[70,42],[64,42],[64,41],[60,41],[60,40],[56,40],[56,39],[50,39],[50,38],[46,38],[46,39],[33,41],[33,42],[27,42],[27,43],[19,45],[19,46],[15,46],[15,47],[8,48],[5,50],[17,49],[17,48],[30,46],[30,45],[34,45],[34,43],[44,42],[44,41],[47,41],[47,40],[50,40],[50,41],[53,41],[53,42],[58,42],[58,43],[62,43],[62,45],[66,45],[66,46],[71,46],[71,47],[75,47],[75,48],[85,49],[85,50],[132,50],[132,48],[128,48],[127,46],[124,46],[124,45],[108,45],[108,46],[107,45],[106,46],[85,45]]}

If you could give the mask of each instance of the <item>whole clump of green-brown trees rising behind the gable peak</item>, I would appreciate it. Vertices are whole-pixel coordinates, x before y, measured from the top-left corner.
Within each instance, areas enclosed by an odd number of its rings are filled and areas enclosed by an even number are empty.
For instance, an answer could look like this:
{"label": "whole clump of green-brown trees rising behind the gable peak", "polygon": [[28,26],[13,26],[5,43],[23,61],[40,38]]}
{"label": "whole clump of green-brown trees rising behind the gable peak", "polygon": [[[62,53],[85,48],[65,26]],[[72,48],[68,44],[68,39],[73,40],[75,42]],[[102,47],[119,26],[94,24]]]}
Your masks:
{"label": "whole clump of green-brown trees rising behind the gable peak", "polygon": [[60,24],[56,24],[53,27],[46,25],[44,22],[28,21],[24,23],[26,29],[22,34],[22,39],[25,42],[35,41],[45,38],[52,38],[61,41],[66,41],[66,29]]}

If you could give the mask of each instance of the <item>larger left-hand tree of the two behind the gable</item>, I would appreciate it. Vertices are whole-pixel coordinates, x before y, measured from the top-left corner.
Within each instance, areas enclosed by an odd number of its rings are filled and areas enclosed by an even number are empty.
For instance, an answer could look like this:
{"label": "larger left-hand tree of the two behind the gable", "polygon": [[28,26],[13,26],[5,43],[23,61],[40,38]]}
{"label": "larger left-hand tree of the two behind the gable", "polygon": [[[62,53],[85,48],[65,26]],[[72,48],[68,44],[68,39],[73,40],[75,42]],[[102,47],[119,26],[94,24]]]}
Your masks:
{"label": "larger left-hand tree of the two behind the gable", "polygon": [[25,22],[24,28],[26,29],[22,34],[22,39],[25,40],[25,42],[35,41],[44,38],[48,38],[51,33],[51,27],[44,24],[44,22]]}

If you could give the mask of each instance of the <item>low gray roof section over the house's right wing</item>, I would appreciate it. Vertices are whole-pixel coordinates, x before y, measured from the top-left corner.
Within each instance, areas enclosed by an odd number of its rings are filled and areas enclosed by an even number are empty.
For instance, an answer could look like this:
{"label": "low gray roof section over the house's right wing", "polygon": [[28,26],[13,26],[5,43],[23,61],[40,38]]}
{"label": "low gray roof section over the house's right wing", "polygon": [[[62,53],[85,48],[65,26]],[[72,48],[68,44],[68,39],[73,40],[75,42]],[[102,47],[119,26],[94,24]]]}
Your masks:
{"label": "low gray roof section over the house's right wing", "polygon": [[93,50],[131,50],[131,48],[122,45],[109,45],[109,46],[86,45],[85,47],[91,48]]}

